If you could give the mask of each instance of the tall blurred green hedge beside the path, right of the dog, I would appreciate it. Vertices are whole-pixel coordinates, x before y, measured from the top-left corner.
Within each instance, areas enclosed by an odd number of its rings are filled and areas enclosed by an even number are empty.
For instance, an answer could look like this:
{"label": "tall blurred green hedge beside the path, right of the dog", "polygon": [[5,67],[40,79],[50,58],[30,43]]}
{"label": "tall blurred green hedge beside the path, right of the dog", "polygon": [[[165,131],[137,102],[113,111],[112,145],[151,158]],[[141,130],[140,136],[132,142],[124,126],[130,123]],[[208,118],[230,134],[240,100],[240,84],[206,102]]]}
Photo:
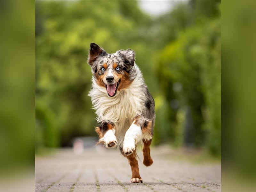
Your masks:
{"label": "tall blurred green hedge beside the path, right of the dog", "polygon": [[[220,17],[204,22],[207,25],[193,25],[167,44],[159,55],[157,76],[164,98],[173,108],[168,119],[174,126],[171,135],[175,143],[206,144],[211,153],[220,154]],[[187,116],[185,124],[177,115]],[[185,141],[177,137],[179,133],[185,135]],[[187,138],[186,134],[192,136]]]}

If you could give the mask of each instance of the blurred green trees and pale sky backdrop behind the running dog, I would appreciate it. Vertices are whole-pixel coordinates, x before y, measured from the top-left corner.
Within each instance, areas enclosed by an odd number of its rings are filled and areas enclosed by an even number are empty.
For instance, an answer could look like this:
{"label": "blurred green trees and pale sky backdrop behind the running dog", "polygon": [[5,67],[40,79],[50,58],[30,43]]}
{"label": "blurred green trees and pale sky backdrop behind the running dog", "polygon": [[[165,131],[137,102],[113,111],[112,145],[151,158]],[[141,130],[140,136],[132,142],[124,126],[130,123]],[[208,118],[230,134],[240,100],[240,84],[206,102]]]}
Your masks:
{"label": "blurred green trees and pale sky backdrop behind the running dog", "polygon": [[220,157],[220,11],[220,0],[36,1],[36,153],[97,141],[93,42],[136,52],[155,99],[153,145]]}

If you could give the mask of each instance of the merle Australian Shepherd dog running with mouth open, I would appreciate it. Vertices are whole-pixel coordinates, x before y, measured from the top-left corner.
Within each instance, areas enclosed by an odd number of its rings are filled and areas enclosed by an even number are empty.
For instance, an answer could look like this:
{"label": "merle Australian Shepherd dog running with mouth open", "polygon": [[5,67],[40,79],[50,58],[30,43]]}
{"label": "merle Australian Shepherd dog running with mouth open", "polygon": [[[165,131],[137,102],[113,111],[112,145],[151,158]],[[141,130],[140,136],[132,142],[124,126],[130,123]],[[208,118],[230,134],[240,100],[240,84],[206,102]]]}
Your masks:
{"label": "merle Australian Shepherd dog running with mouth open", "polygon": [[89,96],[100,127],[99,142],[119,148],[131,165],[131,183],[142,183],[136,147],[143,145],[143,164],[150,166],[150,144],[155,123],[155,101],[148,91],[131,49],[108,54],[91,43],[88,64],[92,69]]}

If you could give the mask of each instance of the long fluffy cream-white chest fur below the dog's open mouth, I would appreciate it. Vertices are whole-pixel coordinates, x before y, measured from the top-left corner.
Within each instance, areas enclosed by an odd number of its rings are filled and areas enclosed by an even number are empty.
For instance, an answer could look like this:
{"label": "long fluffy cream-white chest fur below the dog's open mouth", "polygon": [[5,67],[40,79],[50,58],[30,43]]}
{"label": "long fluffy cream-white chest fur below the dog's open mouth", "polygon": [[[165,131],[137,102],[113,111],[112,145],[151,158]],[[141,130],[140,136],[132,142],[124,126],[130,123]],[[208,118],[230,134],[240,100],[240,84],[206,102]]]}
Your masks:
{"label": "long fluffy cream-white chest fur below the dog's open mouth", "polygon": [[109,97],[106,89],[92,80],[89,96],[98,116],[97,121],[114,123],[118,144],[122,143],[133,118],[140,115],[145,108],[146,96],[143,86],[143,81],[135,79],[128,88],[118,91],[114,97]]}

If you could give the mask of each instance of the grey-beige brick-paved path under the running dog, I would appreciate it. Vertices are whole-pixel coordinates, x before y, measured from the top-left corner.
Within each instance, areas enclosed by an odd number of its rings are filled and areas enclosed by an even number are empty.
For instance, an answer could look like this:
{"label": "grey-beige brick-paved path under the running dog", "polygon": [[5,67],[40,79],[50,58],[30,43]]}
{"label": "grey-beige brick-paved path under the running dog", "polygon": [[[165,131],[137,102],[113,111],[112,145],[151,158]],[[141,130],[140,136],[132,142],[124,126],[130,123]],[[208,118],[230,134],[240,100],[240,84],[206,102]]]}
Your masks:
{"label": "grey-beige brick-paved path under the running dog", "polygon": [[[143,183],[130,183],[128,160],[119,151],[101,146],[80,155],[60,149],[51,156],[36,157],[36,191],[221,191],[220,163],[177,160],[167,147],[153,148],[154,163],[142,164]],[[189,156],[187,156],[189,159]]]}

